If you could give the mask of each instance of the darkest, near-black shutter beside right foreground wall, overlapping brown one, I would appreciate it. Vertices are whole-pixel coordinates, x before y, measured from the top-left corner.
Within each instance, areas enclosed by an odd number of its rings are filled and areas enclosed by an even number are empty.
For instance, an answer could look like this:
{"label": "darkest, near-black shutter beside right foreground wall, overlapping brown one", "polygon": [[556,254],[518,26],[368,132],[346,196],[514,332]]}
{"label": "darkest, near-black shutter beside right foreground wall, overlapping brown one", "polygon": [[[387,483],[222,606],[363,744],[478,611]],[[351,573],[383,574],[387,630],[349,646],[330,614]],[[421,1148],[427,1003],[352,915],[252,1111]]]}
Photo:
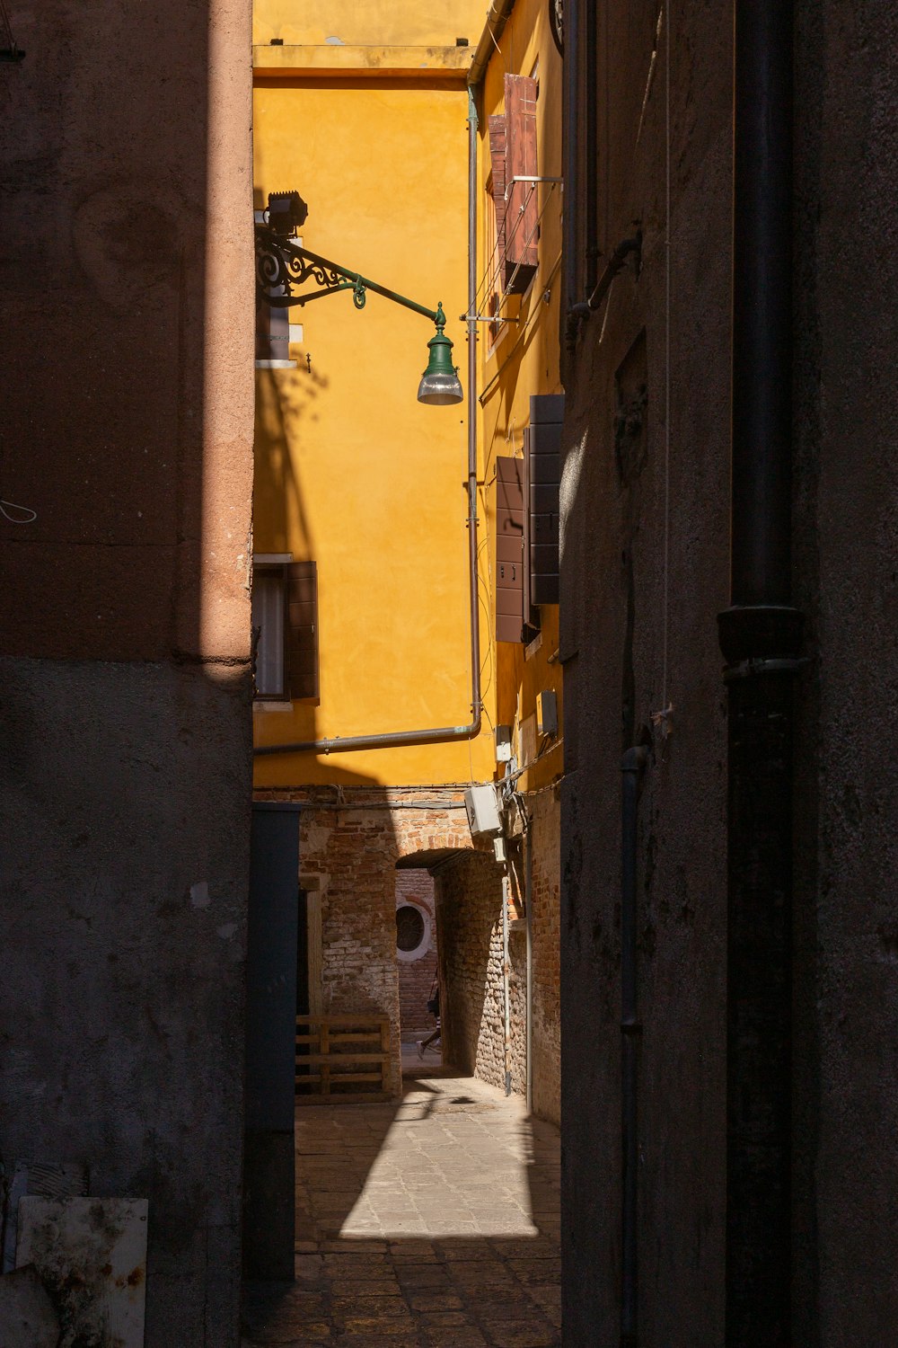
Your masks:
{"label": "darkest, near-black shutter beside right foreground wall, overlapping brown one", "polygon": [[564,394],[530,398],[526,448],[524,612],[559,601],[559,491]]}

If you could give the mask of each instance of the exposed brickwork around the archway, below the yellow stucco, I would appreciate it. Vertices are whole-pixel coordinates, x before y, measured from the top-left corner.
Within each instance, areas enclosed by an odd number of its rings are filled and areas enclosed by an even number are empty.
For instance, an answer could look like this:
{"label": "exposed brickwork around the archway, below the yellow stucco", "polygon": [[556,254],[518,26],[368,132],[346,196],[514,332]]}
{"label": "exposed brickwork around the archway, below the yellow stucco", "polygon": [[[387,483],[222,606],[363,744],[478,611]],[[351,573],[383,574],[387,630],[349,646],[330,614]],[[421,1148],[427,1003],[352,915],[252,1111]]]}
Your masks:
{"label": "exposed brickwork around the archway, below the yellow stucco", "polygon": [[[260,791],[261,799],[304,801],[300,874],[322,903],[324,1011],[372,1011],[392,1023],[390,1085],[401,1084],[401,1031],[429,1030],[424,1008],[439,958],[444,1053],[459,1070],[505,1084],[502,871],[489,840],[471,844],[463,787],[308,787]],[[533,817],[533,1107],[559,1119],[559,849],[552,793],[528,797]],[[458,857],[439,853],[458,852]],[[526,1089],[526,937],[524,868],[512,845],[509,1002],[512,1089]],[[434,856],[438,853],[438,856]],[[424,869],[396,869],[401,857]],[[421,960],[396,957],[397,899],[434,914]],[[439,933],[439,942],[438,942]]]}

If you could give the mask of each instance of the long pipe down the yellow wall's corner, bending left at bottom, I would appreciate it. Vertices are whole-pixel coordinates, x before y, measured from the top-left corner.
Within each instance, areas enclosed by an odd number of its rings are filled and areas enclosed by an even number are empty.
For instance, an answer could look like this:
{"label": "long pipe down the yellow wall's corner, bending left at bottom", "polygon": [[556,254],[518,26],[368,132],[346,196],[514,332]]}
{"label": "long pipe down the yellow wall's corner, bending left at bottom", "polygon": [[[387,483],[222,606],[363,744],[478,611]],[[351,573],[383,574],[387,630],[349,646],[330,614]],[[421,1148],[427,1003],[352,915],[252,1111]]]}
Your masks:
{"label": "long pipe down the yellow wall's corner, bending left at bottom", "polygon": [[[510,5],[509,5],[510,8]],[[467,133],[467,311],[477,311],[477,109],[469,90]],[[404,748],[412,744],[450,744],[473,740],[481,732],[483,702],[481,698],[481,627],[477,574],[477,324],[467,325],[467,584],[471,640],[471,720],[467,725],[442,725],[434,729],[389,731],[382,735],[346,735],[324,740],[299,740],[291,744],[260,744],[256,758],[272,754],[353,754],[364,749]]]}

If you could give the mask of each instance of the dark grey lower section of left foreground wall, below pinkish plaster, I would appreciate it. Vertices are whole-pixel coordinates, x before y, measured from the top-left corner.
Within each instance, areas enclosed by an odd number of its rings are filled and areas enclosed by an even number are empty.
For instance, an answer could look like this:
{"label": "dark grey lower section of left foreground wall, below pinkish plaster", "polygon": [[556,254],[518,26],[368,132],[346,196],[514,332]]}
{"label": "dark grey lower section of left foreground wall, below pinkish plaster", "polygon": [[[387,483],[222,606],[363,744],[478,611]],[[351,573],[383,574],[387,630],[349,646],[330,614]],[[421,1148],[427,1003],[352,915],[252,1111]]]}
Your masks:
{"label": "dark grey lower section of left foreground wall, below pinkish plaster", "polygon": [[245,681],[155,663],[1,669],[3,1158],[78,1162],[92,1194],[148,1198],[148,1348],[230,1345]]}

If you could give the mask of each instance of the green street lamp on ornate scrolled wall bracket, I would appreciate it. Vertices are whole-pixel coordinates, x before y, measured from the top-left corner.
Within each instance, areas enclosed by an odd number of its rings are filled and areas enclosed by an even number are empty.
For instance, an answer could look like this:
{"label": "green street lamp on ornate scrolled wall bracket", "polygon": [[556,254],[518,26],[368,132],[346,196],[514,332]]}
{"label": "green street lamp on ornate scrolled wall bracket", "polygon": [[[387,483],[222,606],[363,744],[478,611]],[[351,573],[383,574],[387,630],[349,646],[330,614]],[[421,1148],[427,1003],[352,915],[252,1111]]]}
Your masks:
{"label": "green street lamp on ornate scrolled wall bracket", "polygon": [[[265,303],[272,309],[288,309],[307,305],[311,299],[323,299],[324,295],[335,295],[341,290],[351,290],[353,303],[357,309],[364,309],[366,291],[373,290],[374,294],[429,318],[436,333],[427,344],[429,356],[417,388],[417,400],[428,407],[460,403],[462,384],[452,364],[452,342],[443,332],[446,314],[442,302],[436,309],[425,309],[349,267],[303,248],[293,240],[307,216],[308,206],[298,191],[272,193],[268,198],[268,209],[261,222],[256,224],[256,284]],[[298,294],[298,287],[308,280],[315,282],[319,288]]]}

